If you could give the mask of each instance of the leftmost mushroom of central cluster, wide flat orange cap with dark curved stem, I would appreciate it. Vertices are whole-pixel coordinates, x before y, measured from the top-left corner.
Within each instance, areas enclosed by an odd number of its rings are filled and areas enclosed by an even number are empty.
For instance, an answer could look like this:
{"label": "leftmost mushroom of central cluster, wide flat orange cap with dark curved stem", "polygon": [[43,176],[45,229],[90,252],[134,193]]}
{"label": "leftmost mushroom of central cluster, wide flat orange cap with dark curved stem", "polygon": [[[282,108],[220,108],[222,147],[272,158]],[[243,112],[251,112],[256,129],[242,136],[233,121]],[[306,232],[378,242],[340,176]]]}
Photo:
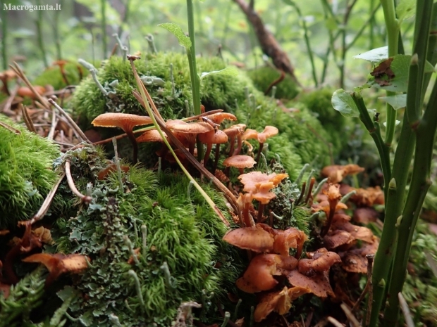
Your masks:
{"label": "leftmost mushroom of central cluster, wide flat orange cap with dark curved stem", "polygon": [[138,160],[138,144],[133,134],[135,126],[152,124],[152,118],[148,116],[131,115],[128,113],[103,113],[97,116],[92,122],[97,127],[120,127],[128,134],[133,146],[133,163]]}

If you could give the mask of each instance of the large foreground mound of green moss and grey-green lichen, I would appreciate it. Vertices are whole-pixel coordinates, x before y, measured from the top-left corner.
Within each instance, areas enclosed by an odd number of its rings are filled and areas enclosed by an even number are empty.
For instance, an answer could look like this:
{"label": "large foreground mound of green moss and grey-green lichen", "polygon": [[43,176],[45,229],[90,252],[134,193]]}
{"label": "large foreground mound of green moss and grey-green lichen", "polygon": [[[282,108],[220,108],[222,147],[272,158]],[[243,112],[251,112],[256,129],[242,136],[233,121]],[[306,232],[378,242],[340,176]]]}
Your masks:
{"label": "large foreground mound of green moss and grey-green lichen", "polygon": [[[211,292],[223,302],[235,292],[243,267],[234,260],[242,256],[221,241],[226,227],[185,177],[131,167],[120,187],[116,174],[97,179],[106,163],[94,148],[66,158],[82,192],[85,181],[92,183],[93,199],[52,229],[62,235],[55,239],[59,252],[91,258],[92,267],[75,279],[82,296],[70,305],[79,319],[73,326],[112,326],[113,319],[123,326],[171,326],[181,302],[202,304]],[[223,196],[203,187],[226,214]],[[135,259],[133,248],[139,249]],[[209,309],[204,303],[197,316],[211,318]]]}

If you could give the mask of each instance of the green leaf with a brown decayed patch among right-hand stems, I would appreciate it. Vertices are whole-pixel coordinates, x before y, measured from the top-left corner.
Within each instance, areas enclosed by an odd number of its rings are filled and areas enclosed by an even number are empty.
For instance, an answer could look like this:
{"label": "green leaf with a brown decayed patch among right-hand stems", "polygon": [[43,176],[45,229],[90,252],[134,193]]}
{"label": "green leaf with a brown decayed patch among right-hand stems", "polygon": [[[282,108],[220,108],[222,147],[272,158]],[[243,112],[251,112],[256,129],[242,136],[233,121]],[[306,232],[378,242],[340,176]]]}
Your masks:
{"label": "green leaf with a brown decayed patch among right-hand stems", "polygon": [[[367,81],[367,84],[374,86],[378,89],[383,89],[392,92],[406,92],[408,84],[408,73],[410,71],[410,55],[397,55],[381,61],[385,63],[388,60],[392,60],[387,66],[386,70],[388,74],[380,73],[380,76],[371,76]],[[381,65],[379,63],[379,65]],[[378,65],[376,66],[378,67]],[[390,69],[390,71],[388,70]],[[425,72],[433,72],[434,68],[428,61],[425,65]],[[390,77],[392,75],[393,77]]]}

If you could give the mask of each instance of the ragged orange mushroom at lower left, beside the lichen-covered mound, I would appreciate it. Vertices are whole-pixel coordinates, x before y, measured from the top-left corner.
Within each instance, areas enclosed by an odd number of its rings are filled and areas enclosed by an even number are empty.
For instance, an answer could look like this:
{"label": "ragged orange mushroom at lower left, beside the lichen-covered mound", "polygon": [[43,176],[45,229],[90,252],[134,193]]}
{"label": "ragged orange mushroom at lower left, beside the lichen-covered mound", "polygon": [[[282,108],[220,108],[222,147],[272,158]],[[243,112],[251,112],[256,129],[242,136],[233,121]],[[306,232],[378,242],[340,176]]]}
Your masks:
{"label": "ragged orange mushroom at lower left, beside the lichen-covered mound", "polygon": [[46,287],[61,276],[61,274],[66,272],[78,274],[88,267],[85,255],[62,255],[60,253],[37,253],[26,257],[23,259],[23,262],[36,262],[47,267],[50,274],[46,279]]}

